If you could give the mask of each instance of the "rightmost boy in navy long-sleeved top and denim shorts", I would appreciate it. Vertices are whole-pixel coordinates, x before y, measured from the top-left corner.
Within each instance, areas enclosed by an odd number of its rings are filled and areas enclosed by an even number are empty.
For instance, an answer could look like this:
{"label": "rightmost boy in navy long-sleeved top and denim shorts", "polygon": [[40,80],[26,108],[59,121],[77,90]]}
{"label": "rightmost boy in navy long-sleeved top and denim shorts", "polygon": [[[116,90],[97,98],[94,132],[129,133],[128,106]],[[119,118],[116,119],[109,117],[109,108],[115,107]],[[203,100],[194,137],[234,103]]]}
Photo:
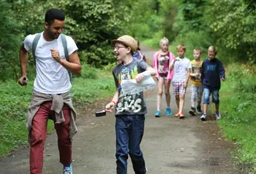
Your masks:
{"label": "rightmost boy in navy long-sleeved top and denim shorts", "polygon": [[217,48],[210,46],[208,48],[208,58],[203,61],[201,69],[201,79],[203,82],[203,115],[200,117],[201,121],[206,121],[206,113],[208,104],[210,103],[210,96],[212,94],[212,102],[215,103],[216,118],[220,119],[219,113],[219,89],[220,79],[225,81],[225,69],[222,61],[215,58],[217,55]]}

